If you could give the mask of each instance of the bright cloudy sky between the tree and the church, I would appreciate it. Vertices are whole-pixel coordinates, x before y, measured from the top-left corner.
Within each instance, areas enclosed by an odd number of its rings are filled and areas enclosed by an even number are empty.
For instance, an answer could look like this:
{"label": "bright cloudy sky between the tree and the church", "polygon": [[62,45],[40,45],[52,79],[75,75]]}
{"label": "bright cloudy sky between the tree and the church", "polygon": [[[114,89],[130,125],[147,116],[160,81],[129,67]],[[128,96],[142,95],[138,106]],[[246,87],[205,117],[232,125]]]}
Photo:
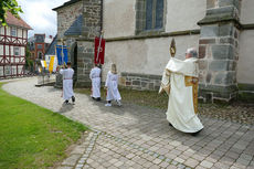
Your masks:
{"label": "bright cloudy sky between the tree and the church", "polygon": [[45,33],[49,35],[56,34],[56,12],[53,8],[62,6],[70,0],[18,0],[24,13],[21,18],[33,30],[29,31],[29,38],[34,33]]}

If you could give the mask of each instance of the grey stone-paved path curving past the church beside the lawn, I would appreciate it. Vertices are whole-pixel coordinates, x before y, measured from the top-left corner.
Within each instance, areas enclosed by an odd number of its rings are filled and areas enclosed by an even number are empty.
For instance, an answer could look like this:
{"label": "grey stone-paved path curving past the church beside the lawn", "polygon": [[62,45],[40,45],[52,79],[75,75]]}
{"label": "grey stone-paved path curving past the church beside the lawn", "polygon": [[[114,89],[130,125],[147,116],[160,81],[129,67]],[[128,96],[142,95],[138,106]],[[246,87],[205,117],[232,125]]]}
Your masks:
{"label": "grey stone-paved path curving past the church beside the lawn", "polygon": [[75,105],[63,105],[61,89],[35,83],[34,77],[19,80],[3,89],[92,128],[61,169],[254,169],[254,126],[202,117],[204,129],[193,137],[169,127],[160,109],[105,107],[82,94]]}

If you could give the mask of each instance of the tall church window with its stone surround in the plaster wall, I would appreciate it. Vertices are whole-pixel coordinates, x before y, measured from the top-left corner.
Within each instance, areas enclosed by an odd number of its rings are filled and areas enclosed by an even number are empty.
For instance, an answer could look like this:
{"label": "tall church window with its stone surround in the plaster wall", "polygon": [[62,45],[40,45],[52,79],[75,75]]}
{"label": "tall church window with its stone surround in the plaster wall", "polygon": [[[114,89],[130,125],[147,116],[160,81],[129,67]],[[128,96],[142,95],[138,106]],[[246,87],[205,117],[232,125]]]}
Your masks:
{"label": "tall church window with its stone surround in the plaster wall", "polygon": [[165,29],[166,0],[137,0],[136,32],[161,32]]}

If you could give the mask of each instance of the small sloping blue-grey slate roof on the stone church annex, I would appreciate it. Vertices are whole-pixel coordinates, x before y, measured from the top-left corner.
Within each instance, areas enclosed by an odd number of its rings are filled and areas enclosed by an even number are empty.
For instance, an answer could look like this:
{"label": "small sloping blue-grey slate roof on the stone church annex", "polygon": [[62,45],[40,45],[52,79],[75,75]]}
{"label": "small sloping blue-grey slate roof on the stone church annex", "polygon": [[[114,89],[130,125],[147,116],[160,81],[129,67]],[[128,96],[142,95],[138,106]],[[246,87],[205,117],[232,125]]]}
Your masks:
{"label": "small sloping blue-grey slate roof on the stone church annex", "polygon": [[64,32],[64,35],[81,35],[83,25],[83,14],[78,15],[72,25]]}

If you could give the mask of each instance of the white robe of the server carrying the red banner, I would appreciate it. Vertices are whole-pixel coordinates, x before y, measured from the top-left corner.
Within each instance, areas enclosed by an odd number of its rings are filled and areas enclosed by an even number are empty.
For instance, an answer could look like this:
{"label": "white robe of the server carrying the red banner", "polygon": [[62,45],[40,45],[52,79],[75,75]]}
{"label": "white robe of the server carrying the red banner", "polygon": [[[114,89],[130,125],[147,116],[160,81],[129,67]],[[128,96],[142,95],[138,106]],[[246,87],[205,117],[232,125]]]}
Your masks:
{"label": "white robe of the server carrying the red banner", "polygon": [[89,78],[92,80],[92,96],[94,98],[100,97],[100,68],[94,67],[91,70]]}

